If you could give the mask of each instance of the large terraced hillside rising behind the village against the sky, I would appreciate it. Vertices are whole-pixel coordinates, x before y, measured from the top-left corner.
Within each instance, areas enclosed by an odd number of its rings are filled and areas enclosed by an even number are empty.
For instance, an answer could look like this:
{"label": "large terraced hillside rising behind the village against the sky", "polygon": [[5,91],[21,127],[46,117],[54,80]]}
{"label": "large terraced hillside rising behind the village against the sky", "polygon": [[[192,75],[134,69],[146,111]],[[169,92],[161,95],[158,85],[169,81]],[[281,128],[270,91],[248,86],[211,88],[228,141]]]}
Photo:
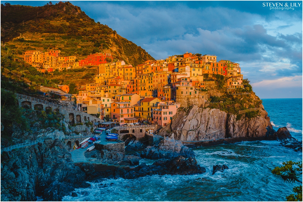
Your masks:
{"label": "large terraced hillside rising behind the village against the sky", "polygon": [[[20,34],[24,38],[17,39]],[[154,59],[70,2],[40,7],[1,4],[1,38],[19,55],[26,50],[59,49],[63,56],[83,59],[91,53],[111,52],[115,59],[133,66]]]}

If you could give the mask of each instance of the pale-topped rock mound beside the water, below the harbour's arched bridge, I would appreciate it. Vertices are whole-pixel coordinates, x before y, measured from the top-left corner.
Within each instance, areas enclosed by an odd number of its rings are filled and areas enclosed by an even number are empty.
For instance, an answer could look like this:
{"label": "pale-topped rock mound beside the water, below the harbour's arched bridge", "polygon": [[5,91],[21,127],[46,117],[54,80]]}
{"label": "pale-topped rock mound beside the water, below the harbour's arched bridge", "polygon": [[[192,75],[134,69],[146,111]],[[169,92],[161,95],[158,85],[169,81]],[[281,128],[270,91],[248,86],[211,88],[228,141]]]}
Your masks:
{"label": "pale-topped rock mound beside the water, below the harbour's arched bridge", "polygon": [[184,146],[180,140],[164,138],[157,145],[148,146],[141,152],[142,158],[159,159],[174,158],[177,156],[185,158],[195,157],[195,152]]}

